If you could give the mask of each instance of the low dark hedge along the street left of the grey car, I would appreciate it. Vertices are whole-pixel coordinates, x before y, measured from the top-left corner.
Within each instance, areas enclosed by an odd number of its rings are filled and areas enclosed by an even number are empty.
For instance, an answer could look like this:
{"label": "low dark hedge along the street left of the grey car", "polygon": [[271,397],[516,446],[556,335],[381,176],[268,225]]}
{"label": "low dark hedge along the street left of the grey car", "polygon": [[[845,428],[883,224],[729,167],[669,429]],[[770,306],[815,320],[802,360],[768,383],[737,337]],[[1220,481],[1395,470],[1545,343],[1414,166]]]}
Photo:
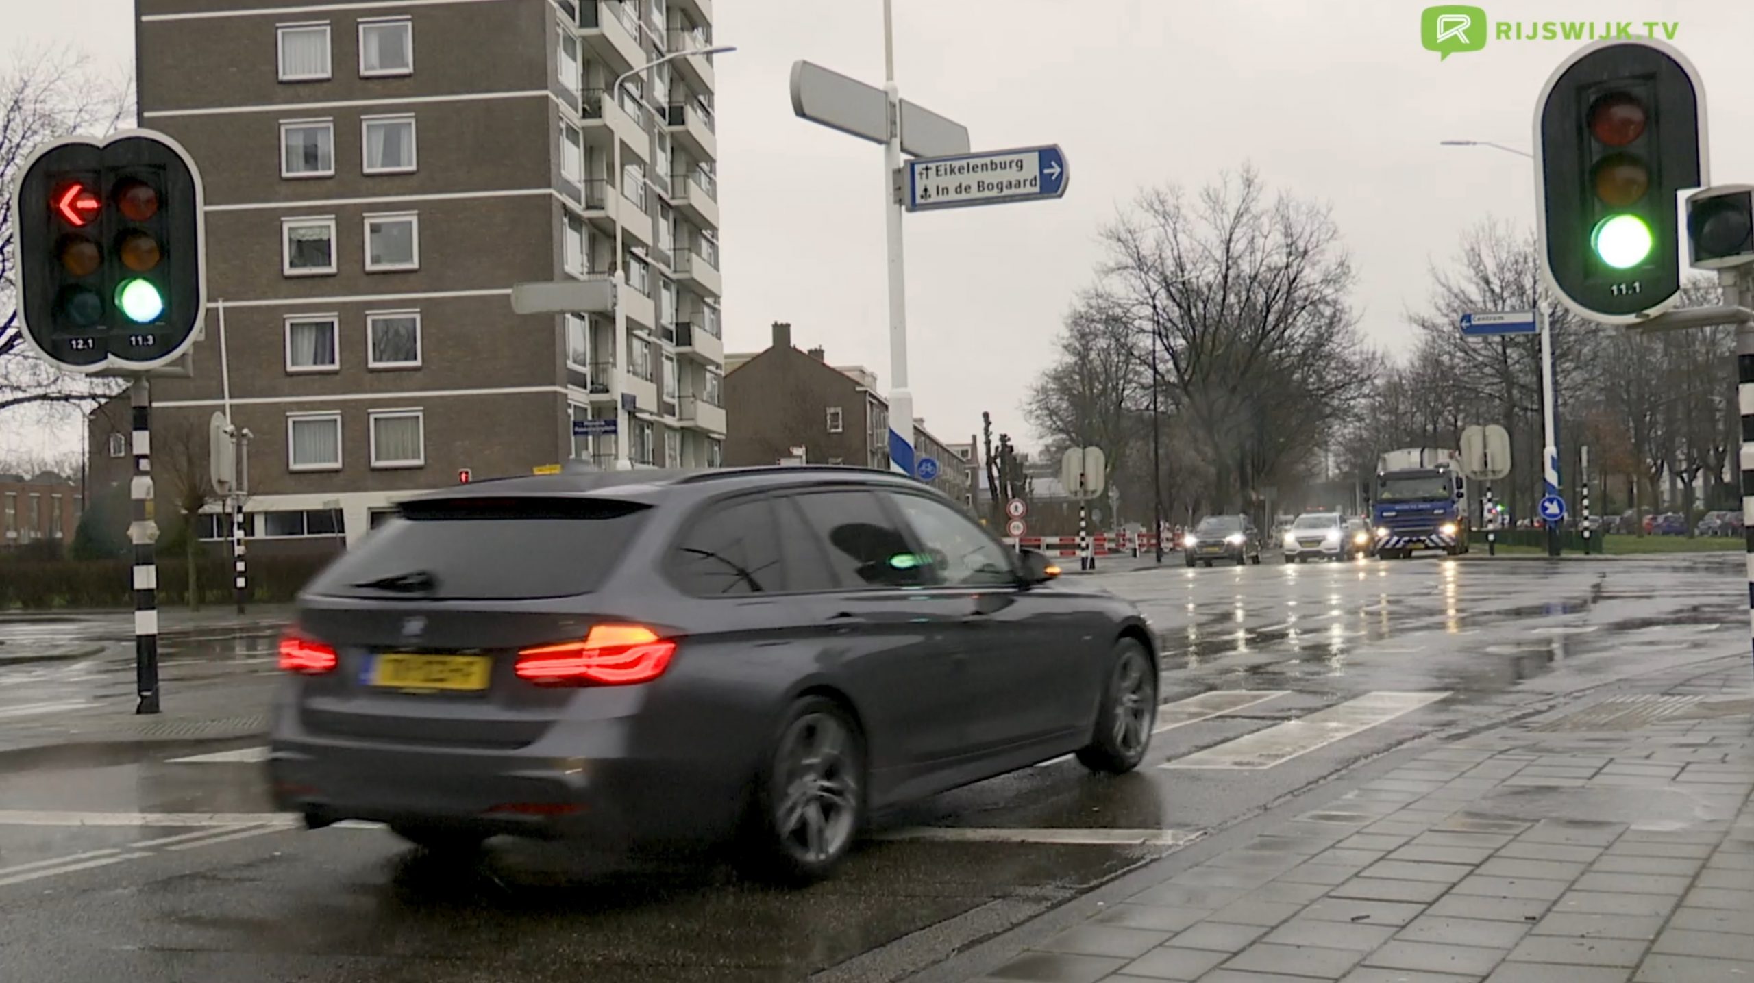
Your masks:
{"label": "low dark hedge along the street left of the grey car", "polygon": [[[249,599],[258,605],[291,601],[323,569],[323,555],[249,557]],[[226,555],[198,557],[196,575],[203,605],[232,601],[232,561]],[[160,606],[189,603],[189,568],[181,555],[158,559]],[[133,573],[123,559],[0,559],[0,612],[44,608],[132,608]]]}

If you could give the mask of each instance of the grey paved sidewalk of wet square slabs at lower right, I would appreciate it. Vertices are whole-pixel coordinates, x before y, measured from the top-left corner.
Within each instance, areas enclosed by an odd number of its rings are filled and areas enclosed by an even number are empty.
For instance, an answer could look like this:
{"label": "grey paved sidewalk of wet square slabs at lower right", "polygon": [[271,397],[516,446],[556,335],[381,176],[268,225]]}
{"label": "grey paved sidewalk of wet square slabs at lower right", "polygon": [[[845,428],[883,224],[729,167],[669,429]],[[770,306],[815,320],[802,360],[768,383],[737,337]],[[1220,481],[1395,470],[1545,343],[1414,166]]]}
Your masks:
{"label": "grey paved sidewalk of wet square slabs at lower right", "polygon": [[1749,676],[1431,750],[980,981],[1754,983]]}

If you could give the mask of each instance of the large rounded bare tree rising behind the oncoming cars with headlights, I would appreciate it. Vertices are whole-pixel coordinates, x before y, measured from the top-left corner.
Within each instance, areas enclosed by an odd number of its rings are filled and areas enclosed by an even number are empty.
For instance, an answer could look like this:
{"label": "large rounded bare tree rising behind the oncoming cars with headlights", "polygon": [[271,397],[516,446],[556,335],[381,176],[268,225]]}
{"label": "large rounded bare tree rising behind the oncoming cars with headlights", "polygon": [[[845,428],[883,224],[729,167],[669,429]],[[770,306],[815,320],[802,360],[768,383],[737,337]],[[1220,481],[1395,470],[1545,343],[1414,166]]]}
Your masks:
{"label": "large rounded bare tree rising behind the oncoming cars with headlights", "polygon": [[1158,347],[1214,505],[1256,506],[1363,391],[1352,265],[1330,212],[1272,196],[1245,166],[1193,200],[1142,193],[1103,244],[1093,298]]}

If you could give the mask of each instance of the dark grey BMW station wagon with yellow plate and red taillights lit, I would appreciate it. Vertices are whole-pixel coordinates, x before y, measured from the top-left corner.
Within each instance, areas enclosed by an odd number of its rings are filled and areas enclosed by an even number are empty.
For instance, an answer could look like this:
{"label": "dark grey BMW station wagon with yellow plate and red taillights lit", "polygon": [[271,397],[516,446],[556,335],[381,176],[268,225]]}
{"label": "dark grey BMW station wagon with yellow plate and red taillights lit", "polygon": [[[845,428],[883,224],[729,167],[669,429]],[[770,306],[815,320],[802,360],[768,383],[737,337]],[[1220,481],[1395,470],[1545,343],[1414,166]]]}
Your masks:
{"label": "dark grey BMW station wagon with yellow plate and red taillights lit", "polygon": [[824,876],[866,817],[1065,753],[1138,766],[1138,610],[900,475],[577,471],[428,492],[300,594],[268,778],[312,829],[733,845]]}

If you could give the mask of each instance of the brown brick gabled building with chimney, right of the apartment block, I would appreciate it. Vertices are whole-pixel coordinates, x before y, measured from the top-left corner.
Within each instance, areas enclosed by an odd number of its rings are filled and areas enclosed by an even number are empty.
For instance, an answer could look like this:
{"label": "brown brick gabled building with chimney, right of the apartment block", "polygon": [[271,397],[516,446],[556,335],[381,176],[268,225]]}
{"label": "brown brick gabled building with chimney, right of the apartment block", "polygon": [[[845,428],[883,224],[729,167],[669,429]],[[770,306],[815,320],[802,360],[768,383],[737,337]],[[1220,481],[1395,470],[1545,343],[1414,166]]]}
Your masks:
{"label": "brown brick gabled building with chimney, right of the apartment block", "polygon": [[[726,354],[724,364],[726,466],[795,461],[802,447],[809,464],[889,468],[889,401],[868,368],[798,350],[784,322],[774,324],[768,349]],[[931,485],[968,505],[973,447],[945,443],[923,422],[914,419],[914,450],[938,461]]]}

